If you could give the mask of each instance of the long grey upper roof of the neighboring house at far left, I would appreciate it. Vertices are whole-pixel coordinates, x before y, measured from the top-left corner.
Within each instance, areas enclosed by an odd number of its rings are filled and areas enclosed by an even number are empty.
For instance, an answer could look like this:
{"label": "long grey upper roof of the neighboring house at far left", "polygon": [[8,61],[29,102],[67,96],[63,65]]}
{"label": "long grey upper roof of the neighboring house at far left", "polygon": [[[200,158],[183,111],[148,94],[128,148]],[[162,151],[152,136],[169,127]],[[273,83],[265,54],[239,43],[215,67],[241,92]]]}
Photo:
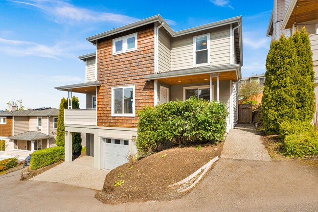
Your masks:
{"label": "long grey upper roof of the neighboring house at far left", "polygon": [[12,111],[12,112],[0,112],[0,116],[20,116],[20,117],[35,117],[35,116],[58,116],[59,109],[56,108],[37,108],[28,109],[23,111]]}

